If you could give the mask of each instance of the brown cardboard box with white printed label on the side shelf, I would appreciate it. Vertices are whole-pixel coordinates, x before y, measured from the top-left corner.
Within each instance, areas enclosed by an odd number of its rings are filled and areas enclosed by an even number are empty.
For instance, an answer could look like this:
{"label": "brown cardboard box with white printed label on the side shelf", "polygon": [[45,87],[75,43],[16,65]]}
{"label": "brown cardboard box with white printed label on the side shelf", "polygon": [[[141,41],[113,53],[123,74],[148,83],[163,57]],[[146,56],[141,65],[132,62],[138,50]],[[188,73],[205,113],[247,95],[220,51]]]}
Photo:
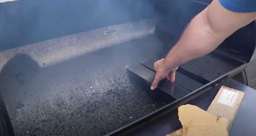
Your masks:
{"label": "brown cardboard box with white printed label on the side shelf", "polygon": [[[240,104],[244,98],[244,92],[222,86],[216,94],[207,112],[217,118],[225,117],[228,119],[227,132],[230,131],[234,122]],[[182,128],[175,132],[169,133],[166,136],[181,136]]]}

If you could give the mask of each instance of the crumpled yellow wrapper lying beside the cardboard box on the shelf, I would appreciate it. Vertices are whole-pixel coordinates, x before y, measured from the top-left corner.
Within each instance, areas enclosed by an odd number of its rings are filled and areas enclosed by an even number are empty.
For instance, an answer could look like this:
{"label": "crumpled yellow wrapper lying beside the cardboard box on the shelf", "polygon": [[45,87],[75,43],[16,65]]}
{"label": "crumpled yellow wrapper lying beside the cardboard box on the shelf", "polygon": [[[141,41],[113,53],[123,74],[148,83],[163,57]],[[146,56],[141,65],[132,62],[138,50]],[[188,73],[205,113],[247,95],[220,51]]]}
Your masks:
{"label": "crumpled yellow wrapper lying beside the cardboard box on the shelf", "polygon": [[217,118],[197,106],[180,106],[178,116],[183,127],[181,136],[228,136],[226,118]]}

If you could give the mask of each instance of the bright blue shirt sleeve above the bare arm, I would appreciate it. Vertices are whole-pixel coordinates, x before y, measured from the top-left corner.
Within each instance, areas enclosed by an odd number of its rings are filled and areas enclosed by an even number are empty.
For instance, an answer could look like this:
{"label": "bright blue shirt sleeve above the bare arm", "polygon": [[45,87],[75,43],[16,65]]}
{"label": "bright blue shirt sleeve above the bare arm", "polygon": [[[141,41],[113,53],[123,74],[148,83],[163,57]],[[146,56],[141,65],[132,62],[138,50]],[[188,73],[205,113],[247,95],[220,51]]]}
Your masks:
{"label": "bright blue shirt sleeve above the bare arm", "polygon": [[256,12],[256,0],[219,0],[219,3],[233,12]]}

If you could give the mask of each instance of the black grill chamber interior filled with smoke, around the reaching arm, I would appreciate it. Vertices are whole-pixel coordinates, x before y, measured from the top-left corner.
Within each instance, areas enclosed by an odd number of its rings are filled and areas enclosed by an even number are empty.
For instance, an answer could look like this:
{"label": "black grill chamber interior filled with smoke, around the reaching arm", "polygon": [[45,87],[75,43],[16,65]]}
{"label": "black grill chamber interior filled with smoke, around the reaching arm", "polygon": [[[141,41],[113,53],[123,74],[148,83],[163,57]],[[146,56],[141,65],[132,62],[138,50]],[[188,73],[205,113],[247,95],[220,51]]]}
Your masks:
{"label": "black grill chamber interior filled with smoke, around the reaching arm", "polygon": [[0,133],[128,135],[225,78],[253,85],[255,22],[180,66],[173,90],[186,90],[182,97],[151,91],[146,77],[127,70],[165,57],[207,3],[1,3]]}

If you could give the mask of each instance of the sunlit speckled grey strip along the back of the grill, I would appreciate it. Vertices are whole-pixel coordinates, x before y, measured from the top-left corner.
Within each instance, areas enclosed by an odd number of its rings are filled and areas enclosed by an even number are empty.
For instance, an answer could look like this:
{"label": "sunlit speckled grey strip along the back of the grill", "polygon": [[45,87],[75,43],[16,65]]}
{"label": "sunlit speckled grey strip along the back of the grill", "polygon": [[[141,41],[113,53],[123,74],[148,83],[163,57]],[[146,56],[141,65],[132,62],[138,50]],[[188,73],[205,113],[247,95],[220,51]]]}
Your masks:
{"label": "sunlit speckled grey strip along the back of the grill", "polygon": [[154,34],[156,19],[112,25],[115,32],[105,35],[105,28],[62,36],[42,42],[0,51],[0,69],[16,54],[27,54],[47,67],[106,47]]}

